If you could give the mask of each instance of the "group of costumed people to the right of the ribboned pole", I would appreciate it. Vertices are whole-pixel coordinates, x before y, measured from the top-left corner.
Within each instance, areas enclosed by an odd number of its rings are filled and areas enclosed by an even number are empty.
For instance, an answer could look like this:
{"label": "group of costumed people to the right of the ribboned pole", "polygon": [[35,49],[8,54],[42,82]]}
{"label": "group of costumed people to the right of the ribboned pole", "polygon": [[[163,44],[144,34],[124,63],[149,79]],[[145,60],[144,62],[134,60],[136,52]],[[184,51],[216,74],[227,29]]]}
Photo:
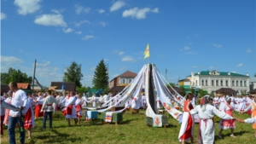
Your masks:
{"label": "group of costumed people to the right of the ribboned pole", "polygon": [[[205,95],[200,102],[193,104],[195,96],[191,93],[185,96],[186,101],[183,104],[183,123],[178,135],[178,140],[183,144],[185,141],[194,142],[194,115],[198,114],[200,118],[198,128],[198,143],[214,143],[214,120],[216,115],[221,120],[218,123],[219,133],[218,137],[222,137],[223,130],[230,130],[230,136],[234,135],[236,129],[236,121],[240,123],[252,124],[256,122],[256,96],[234,96],[234,95],[216,95],[212,98]],[[198,98],[199,99],[199,98]],[[246,120],[234,118],[233,112],[248,112],[252,118]],[[256,124],[253,124],[255,130],[254,138],[256,138]]]}

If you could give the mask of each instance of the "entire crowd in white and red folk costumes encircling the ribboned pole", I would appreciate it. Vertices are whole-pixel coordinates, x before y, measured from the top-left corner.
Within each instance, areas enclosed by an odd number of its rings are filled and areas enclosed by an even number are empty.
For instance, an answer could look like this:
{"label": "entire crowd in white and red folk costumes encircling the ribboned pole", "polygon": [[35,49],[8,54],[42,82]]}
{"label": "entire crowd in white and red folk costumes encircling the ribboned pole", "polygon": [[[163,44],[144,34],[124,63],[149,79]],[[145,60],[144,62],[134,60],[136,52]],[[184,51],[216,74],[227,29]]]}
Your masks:
{"label": "entire crowd in white and red folk costumes encircling the ribboned pole", "polygon": [[[28,139],[32,138],[32,128],[34,128],[34,121],[42,118],[42,129],[46,129],[47,119],[49,119],[49,129],[52,128],[53,113],[60,110],[65,116],[67,125],[71,126],[73,119],[74,124],[80,124],[82,117],[82,107],[87,107],[91,103],[92,107],[101,106],[103,103],[108,103],[110,106],[118,106],[121,97],[114,96],[111,93],[105,95],[92,95],[90,98],[81,96],[79,92],[68,91],[66,95],[62,93],[52,93],[48,90],[46,93],[38,92],[37,94],[30,94],[18,89],[17,83],[11,82],[9,84],[9,93],[1,96],[1,135],[3,135],[3,124],[8,126],[9,143],[15,143],[15,128],[19,125],[20,143],[25,142],[26,132]],[[178,135],[178,140],[184,143],[185,141],[194,142],[194,115],[198,114],[200,118],[198,141],[201,143],[214,143],[214,122],[213,116],[216,115],[222,118],[218,124],[218,137],[222,138],[223,130],[231,131],[230,136],[234,135],[236,129],[236,121],[240,123],[255,123],[253,129],[255,130],[254,137],[256,138],[256,96],[233,96],[233,95],[216,95],[212,98],[205,95],[201,98],[200,103],[196,103],[195,96],[191,93],[187,94],[183,101],[183,123]],[[181,100],[178,95],[176,100]],[[172,106],[179,109],[178,101],[171,100]],[[3,105],[3,104],[4,105]],[[160,109],[160,100],[155,95],[156,108]],[[11,108],[4,109],[5,105]],[[3,107],[4,106],[4,107]],[[125,108],[129,107],[138,109],[146,109],[147,100],[145,95],[132,97],[126,101]],[[233,117],[233,112],[248,112],[252,118],[239,119]]]}

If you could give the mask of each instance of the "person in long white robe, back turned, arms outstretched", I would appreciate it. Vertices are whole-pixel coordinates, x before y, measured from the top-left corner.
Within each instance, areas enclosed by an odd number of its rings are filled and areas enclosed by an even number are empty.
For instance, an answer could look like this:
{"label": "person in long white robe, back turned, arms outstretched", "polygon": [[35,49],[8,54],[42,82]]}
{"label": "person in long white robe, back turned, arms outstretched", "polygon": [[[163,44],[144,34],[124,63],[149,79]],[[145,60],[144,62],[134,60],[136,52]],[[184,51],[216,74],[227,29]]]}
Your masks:
{"label": "person in long white robe, back turned, arms outstretched", "polygon": [[214,143],[214,125],[213,115],[217,115],[223,119],[234,119],[225,112],[220,112],[216,107],[213,107],[209,101],[213,101],[209,95],[201,98],[201,104],[190,111],[191,114],[198,113],[200,123],[198,125],[198,143],[212,144]]}

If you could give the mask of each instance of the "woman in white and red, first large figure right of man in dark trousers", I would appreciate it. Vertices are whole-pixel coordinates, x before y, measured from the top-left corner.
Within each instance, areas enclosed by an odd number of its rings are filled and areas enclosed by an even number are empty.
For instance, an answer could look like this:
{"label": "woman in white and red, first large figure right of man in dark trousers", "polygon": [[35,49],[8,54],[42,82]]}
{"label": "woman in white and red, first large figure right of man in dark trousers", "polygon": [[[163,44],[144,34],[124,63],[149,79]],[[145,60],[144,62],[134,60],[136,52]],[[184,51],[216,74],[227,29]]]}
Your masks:
{"label": "woman in white and red, first large figure right of man in dark trousers", "polygon": [[70,97],[67,101],[66,118],[67,118],[68,126],[71,126],[71,123],[70,123],[71,118],[74,119],[75,124],[78,123],[76,107],[75,107],[77,97],[75,96],[75,93],[72,91],[70,91],[69,94],[70,94]]}

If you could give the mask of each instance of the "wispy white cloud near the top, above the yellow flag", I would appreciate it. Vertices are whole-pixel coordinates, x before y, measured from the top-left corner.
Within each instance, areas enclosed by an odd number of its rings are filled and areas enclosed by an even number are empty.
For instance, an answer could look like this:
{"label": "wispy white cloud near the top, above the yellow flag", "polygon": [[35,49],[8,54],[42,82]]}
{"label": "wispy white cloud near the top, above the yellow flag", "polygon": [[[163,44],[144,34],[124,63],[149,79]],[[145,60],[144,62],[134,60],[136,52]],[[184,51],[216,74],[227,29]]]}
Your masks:
{"label": "wispy white cloud near the top, above the yellow flag", "polygon": [[158,13],[158,9],[157,10],[156,9],[150,10],[149,8],[138,9],[136,7],[136,8],[133,8],[133,9],[125,10],[123,12],[123,17],[131,16],[131,18],[137,18],[138,20],[139,19],[145,19],[146,14],[148,12]]}

